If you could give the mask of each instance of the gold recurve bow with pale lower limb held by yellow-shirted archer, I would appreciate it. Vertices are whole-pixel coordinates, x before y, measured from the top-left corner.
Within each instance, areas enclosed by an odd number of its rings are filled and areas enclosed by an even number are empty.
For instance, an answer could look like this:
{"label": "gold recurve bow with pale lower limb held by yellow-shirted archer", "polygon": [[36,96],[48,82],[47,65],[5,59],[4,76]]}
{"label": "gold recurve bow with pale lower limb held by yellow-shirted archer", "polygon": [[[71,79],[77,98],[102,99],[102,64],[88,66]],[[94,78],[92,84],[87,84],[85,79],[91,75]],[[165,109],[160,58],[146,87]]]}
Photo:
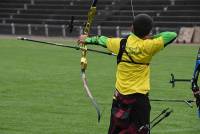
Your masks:
{"label": "gold recurve bow with pale lower limb held by yellow-shirted archer", "polygon": [[[87,20],[87,23],[86,23],[86,25],[84,27],[84,31],[83,31],[83,33],[85,35],[89,35],[90,29],[91,29],[91,24],[93,22],[95,14],[96,14],[96,4],[97,4],[97,0],[93,0],[93,3],[92,3],[90,10],[88,12],[88,20]],[[88,97],[90,98],[93,106],[95,107],[95,109],[97,111],[98,122],[99,122],[100,118],[101,118],[100,108],[97,105],[97,102],[95,101],[94,97],[92,96],[90,88],[88,87],[88,82],[87,82],[86,73],[85,73],[86,68],[87,68],[87,58],[86,58],[87,46],[86,46],[86,44],[82,44],[81,51],[82,51],[81,52],[81,78],[82,78],[82,81],[83,81],[83,86],[84,86],[84,89],[85,89]]]}

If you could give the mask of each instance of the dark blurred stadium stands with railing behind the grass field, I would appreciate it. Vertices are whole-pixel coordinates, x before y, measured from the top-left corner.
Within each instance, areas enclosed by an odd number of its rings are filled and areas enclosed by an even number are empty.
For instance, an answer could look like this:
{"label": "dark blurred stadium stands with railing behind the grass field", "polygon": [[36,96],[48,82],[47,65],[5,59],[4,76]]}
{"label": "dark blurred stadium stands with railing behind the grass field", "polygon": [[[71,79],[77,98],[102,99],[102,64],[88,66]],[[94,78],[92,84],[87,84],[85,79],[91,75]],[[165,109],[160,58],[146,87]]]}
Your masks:
{"label": "dark blurred stadium stands with railing behind the grass field", "polygon": [[[91,0],[1,0],[0,34],[77,37],[87,20]],[[133,0],[135,14],[155,20],[153,33],[180,33],[177,42],[199,43],[199,0]],[[69,33],[71,19],[73,31]],[[130,30],[131,0],[100,0],[92,34],[123,36]]]}

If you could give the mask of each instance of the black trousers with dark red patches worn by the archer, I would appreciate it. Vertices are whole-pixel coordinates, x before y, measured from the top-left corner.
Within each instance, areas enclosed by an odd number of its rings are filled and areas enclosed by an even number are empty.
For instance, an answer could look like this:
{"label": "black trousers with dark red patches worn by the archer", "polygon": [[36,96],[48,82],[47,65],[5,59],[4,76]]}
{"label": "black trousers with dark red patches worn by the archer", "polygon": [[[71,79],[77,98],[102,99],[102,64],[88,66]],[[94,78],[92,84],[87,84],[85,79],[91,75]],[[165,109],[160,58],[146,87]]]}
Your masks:
{"label": "black trousers with dark red patches worn by the archer", "polygon": [[115,92],[108,134],[149,134],[150,102],[148,95],[122,95]]}

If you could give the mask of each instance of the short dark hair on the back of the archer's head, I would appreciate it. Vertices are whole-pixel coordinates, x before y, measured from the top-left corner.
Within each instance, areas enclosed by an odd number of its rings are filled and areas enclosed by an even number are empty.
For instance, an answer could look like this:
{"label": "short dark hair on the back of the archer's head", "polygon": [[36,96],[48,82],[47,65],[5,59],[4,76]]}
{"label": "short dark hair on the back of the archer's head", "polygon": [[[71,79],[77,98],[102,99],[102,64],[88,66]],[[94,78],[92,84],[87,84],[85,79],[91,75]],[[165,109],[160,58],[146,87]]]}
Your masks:
{"label": "short dark hair on the back of the archer's head", "polygon": [[138,14],[133,21],[133,33],[142,38],[151,32],[153,19],[147,14]]}

